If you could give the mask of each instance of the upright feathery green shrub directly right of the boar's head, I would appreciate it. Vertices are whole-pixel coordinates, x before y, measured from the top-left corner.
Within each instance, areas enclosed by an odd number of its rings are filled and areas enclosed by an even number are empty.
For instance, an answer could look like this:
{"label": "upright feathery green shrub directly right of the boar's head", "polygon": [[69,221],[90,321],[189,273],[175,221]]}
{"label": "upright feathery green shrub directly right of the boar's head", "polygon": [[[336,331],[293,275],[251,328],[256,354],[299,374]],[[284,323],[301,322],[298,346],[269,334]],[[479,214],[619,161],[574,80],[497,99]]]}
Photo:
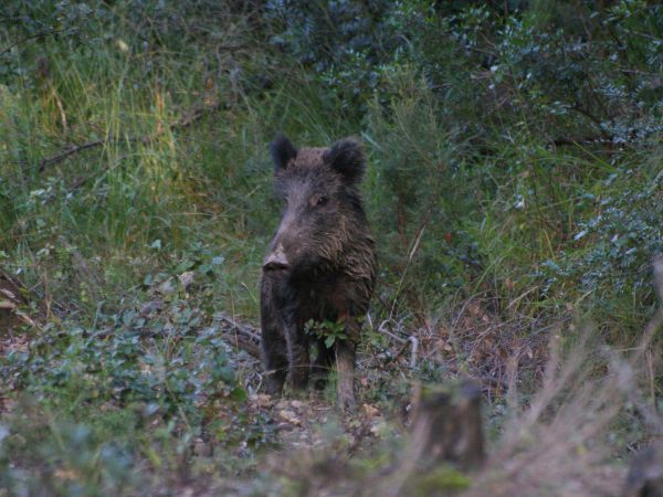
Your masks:
{"label": "upright feathery green shrub directly right of the boar's head", "polygon": [[463,226],[464,216],[477,207],[469,194],[473,180],[457,160],[424,82],[401,71],[391,85],[388,105],[373,102],[366,134],[376,165],[369,207],[375,209],[380,260],[406,289],[417,285],[444,295],[466,283],[475,263]]}

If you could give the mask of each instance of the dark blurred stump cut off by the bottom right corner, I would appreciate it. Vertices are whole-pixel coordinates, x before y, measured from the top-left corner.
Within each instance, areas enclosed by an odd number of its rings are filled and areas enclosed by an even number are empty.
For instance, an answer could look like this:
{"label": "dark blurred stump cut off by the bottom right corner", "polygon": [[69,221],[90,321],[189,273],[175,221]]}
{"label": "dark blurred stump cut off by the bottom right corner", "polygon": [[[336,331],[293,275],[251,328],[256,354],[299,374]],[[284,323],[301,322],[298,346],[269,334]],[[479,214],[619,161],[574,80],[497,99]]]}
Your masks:
{"label": "dark blurred stump cut off by the bottom right corner", "polygon": [[663,443],[656,443],[633,457],[624,497],[663,497]]}

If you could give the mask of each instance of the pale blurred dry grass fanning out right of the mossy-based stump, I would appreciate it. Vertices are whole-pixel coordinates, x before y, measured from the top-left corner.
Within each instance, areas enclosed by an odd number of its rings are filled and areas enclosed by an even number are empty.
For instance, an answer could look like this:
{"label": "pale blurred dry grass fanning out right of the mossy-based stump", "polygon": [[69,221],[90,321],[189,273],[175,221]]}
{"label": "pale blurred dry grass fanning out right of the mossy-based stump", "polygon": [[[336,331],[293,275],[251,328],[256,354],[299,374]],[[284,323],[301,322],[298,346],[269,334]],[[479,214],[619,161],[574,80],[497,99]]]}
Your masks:
{"label": "pale blurred dry grass fanning out right of the mossy-based stump", "polygon": [[[653,266],[663,302],[663,261],[655,260]],[[608,435],[628,403],[644,420],[650,435],[663,430],[641,388],[648,377],[644,358],[662,325],[663,306],[628,358],[607,347],[597,349],[591,329],[567,355],[554,335],[540,390],[507,423],[467,495],[622,495],[627,453],[615,454]]]}

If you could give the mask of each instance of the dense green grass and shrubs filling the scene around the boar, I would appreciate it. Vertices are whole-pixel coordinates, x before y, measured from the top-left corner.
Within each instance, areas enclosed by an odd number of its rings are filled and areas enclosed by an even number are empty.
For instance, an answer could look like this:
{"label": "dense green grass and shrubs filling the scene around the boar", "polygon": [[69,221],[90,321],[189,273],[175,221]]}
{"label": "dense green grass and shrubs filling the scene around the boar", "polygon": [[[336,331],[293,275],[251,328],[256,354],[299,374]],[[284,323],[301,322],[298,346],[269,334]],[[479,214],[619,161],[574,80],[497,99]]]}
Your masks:
{"label": "dense green grass and shrubs filling the scene around the boar", "polygon": [[[278,130],[355,135],[369,157],[380,273],[362,408],[338,424],[329,395],[312,393],[318,411],[262,395],[223,320],[257,322]],[[513,419],[578,435],[564,454],[603,447],[569,467],[541,455],[559,463],[551,495],[594,464],[619,473],[663,388],[659,340],[624,362],[657,326],[662,131],[657,2],[2,2],[0,267],[25,304],[0,329],[0,488],[317,495],[306,474],[344,454],[348,480],[323,486],[352,495],[394,464],[412,383],[461,373],[482,382],[505,461],[528,447]],[[569,374],[544,373],[551,350]],[[578,398],[588,385],[613,391]],[[570,431],[545,435],[532,406]],[[311,426],[308,445],[280,416]],[[308,455],[270,459],[284,446]],[[433,483],[497,495],[496,467]],[[610,495],[588,485],[568,495]]]}

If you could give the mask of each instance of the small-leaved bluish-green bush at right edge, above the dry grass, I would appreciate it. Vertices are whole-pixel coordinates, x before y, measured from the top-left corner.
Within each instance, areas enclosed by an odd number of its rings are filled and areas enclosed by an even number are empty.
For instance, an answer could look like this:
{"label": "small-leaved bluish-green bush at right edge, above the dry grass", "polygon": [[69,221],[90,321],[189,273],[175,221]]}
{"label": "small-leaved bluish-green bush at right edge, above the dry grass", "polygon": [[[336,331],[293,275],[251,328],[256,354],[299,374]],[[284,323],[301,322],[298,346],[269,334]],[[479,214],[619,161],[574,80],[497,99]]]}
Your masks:
{"label": "small-leaved bluish-green bush at right edge, above the dry grass", "polygon": [[663,253],[661,179],[654,156],[601,180],[601,193],[586,193],[578,201],[588,215],[578,223],[572,245],[558,263],[544,265],[549,284],[577,282],[608,320],[618,318],[618,328],[636,328],[657,303],[651,263]]}

